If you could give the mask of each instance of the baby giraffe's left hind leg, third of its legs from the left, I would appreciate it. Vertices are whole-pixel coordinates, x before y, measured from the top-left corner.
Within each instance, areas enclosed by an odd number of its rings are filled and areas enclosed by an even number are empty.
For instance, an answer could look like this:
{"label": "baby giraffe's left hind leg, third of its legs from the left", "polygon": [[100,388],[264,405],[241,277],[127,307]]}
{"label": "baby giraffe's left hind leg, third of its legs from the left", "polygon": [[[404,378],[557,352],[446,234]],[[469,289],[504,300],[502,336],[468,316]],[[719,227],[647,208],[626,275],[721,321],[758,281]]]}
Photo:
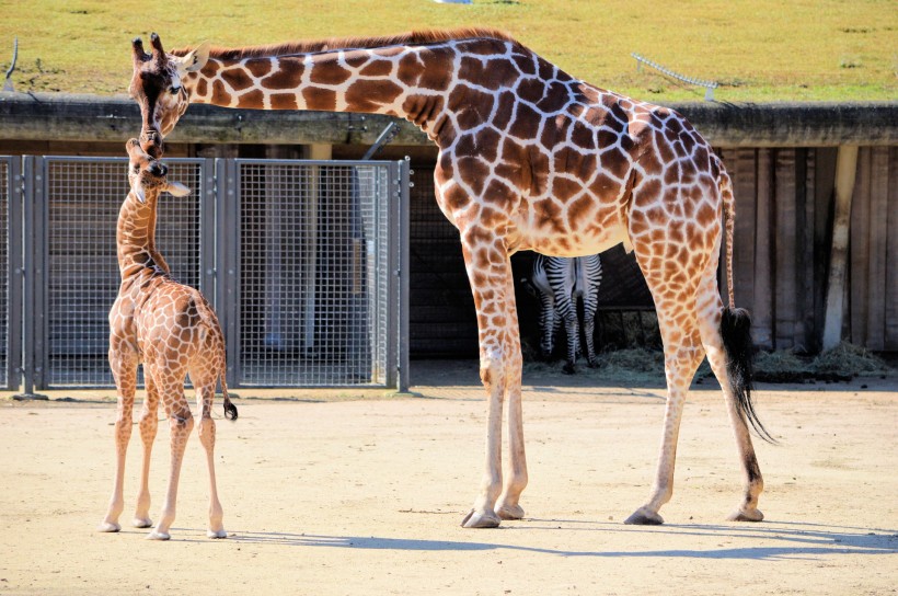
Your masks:
{"label": "baby giraffe's left hind leg, third of its legs from the left", "polygon": [[165,375],[165,381],[161,382],[157,371],[153,377],[162,391],[165,413],[169,416],[169,428],[171,431],[172,461],[169,473],[169,489],[165,492],[165,502],[162,505],[162,513],[156,528],[147,535],[150,540],[168,540],[171,538],[169,529],[174,522],[177,501],[177,481],[181,478],[181,463],[184,461],[184,449],[187,438],[194,427],[193,414],[184,397],[183,378],[175,375]]}

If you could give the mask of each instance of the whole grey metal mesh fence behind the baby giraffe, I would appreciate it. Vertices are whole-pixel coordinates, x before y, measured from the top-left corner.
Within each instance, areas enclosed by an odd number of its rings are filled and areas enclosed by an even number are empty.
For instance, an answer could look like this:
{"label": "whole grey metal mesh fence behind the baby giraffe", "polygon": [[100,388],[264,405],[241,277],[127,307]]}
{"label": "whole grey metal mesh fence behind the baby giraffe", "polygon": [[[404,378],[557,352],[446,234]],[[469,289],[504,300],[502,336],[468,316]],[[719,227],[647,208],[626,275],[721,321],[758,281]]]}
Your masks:
{"label": "whole grey metal mesh fence behind the baby giraffe", "polygon": [[[15,163],[4,158],[0,176]],[[173,277],[216,307],[229,385],[404,388],[396,273],[403,202],[407,218],[405,162],[166,163],[169,179],[193,193],[162,197],[157,242]],[[22,158],[24,208],[7,215],[13,211],[3,204],[0,226],[7,237],[16,221],[24,231],[21,251],[0,253],[0,356],[22,354],[26,392],[114,385],[106,318],[119,283],[115,229],[128,192],[126,164]],[[10,260],[26,272],[19,282]],[[13,300],[8,288],[18,286],[21,300]],[[16,301],[19,314],[10,307]],[[11,345],[10,323],[21,325],[21,351]],[[3,375],[0,387],[18,387],[16,375]]]}

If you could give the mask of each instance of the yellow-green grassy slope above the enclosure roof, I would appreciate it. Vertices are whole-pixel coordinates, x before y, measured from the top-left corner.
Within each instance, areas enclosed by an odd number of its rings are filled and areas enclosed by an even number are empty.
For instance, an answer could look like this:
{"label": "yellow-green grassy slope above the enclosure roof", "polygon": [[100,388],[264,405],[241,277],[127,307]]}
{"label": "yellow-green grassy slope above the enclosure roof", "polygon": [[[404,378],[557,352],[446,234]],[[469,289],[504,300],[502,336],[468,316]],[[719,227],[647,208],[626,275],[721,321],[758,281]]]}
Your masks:
{"label": "yellow-green grassy slope above the enclosure roof", "polygon": [[18,91],[116,94],[130,39],[151,31],[177,47],[472,25],[506,30],[576,77],[652,101],[703,91],[637,72],[631,51],[721,82],[722,101],[898,99],[894,0],[0,0],[0,66],[18,35]]}

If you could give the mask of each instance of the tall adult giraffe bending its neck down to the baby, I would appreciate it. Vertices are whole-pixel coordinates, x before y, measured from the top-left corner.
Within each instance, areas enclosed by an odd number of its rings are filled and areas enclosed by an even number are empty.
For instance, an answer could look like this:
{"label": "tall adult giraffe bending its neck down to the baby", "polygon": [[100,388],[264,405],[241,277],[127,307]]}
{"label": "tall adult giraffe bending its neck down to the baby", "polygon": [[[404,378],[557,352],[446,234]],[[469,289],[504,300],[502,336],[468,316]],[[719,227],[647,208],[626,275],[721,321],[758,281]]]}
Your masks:
{"label": "tall adult giraffe bending its neck down to the baby", "polygon": [[[261,110],[321,110],[402,116],[439,147],[437,202],[461,236],[488,393],[486,462],[465,527],[523,516],[527,484],[521,355],[509,257],[595,254],[623,242],[655,299],[668,397],[649,500],[628,518],[660,524],[672,494],[686,393],[707,355],[723,392],[745,472],[730,516],[760,520],[763,488],[748,431],[750,321],[717,289],[722,218],[732,270],[734,200],[709,144],[676,112],[576,80],[491,30],[300,42],[280,46],[152,54],[134,42],[130,93],[140,104],[141,144],[162,151],[189,103]],[[503,402],[509,460],[502,470]]]}

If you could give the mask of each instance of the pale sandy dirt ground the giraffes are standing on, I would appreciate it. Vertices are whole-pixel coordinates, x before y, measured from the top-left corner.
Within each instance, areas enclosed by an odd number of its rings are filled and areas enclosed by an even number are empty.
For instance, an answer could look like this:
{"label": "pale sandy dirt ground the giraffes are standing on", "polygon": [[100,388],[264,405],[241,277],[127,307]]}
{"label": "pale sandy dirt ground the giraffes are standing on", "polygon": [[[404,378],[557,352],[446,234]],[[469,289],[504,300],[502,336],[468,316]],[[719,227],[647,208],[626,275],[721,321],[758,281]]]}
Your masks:
{"label": "pale sandy dirt ground the giraffes are standing on", "polygon": [[[205,537],[207,474],[191,439],[172,540],[143,540],[128,451],[120,534],[108,392],[0,399],[0,593],[894,594],[898,377],[761,386],[760,524],[725,522],[740,475],[718,390],[693,388],[659,527],[623,519],[648,495],[664,391],[526,376],[523,520],[459,526],[483,465],[474,363],[413,363],[413,396],[240,391],[216,405],[227,540]],[[0,396],[2,397],[2,396]],[[64,401],[73,398],[76,401]],[[153,451],[152,515],[168,474]]]}

